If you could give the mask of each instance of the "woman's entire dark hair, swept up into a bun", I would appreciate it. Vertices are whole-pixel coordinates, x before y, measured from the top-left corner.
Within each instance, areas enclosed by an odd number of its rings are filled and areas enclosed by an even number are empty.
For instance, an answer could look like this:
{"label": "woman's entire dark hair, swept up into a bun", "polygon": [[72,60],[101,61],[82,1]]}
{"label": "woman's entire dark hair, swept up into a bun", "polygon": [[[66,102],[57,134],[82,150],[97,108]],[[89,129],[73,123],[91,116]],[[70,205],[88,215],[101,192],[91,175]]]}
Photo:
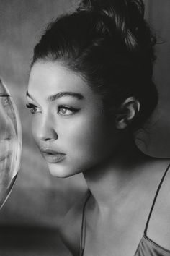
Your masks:
{"label": "woman's entire dark hair, swept up into a bun", "polygon": [[138,129],[158,103],[153,83],[156,38],[142,0],[82,0],[71,14],[48,25],[34,49],[39,60],[60,61],[102,95],[107,114],[128,97],[140,102],[131,124]]}

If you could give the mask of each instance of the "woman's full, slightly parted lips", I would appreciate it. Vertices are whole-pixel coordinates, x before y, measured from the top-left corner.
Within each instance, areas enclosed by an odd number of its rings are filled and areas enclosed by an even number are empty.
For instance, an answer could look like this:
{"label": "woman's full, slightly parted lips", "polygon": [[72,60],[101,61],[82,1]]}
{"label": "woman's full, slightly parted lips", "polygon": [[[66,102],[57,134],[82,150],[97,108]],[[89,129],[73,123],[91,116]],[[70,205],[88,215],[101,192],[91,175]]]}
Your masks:
{"label": "woman's full, slightly parted lips", "polygon": [[66,157],[66,154],[59,153],[50,149],[42,149],[41,152],[42,156],[45,158],[45,161],[48,163],[58,163],[63,161],[63,159]]}

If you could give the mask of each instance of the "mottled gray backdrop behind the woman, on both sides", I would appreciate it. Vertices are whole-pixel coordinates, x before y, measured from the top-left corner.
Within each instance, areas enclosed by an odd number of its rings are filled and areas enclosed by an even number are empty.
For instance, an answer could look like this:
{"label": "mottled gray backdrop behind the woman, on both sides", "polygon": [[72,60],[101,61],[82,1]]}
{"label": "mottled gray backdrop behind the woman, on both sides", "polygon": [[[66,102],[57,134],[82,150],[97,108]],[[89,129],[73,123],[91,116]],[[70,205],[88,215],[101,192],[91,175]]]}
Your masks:
{"label": "mottled gray backdrop behind the woman, on both sides", "polygon": [[[50,176],[32,140],[25,91],[32,50],[47,23],[71,11],[76,0],[0,0],[0,75],[9,87],[22,120],[22,164],[12,195],[0,211],[0,255],[69,255],[57,227],[66,210],[84,192],[81,174],[68,179]],[[149,155],[170,157],[170,1],[147,0],[146,18],[160,43],[154,80],[159,103],[140,148]],[[152,99],[151,99],[152,100]]]}

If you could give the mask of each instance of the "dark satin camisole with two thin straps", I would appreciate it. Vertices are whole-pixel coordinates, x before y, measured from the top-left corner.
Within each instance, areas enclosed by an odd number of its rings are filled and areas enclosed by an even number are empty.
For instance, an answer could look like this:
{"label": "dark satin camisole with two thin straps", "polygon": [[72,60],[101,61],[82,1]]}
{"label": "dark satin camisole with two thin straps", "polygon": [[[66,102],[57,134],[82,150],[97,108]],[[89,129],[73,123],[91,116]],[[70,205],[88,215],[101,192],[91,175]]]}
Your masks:
{"label": "dark satin camisole with two thin straps", "polygon": [[[170,164],[169,164],[169,166],[170,166]],[[138,244],[138,248],[136,249],[134,256],[170,256],[170,250],[165,249],[165,248],[161,247],[160,245],[156,244],[156,242],[153,242],[147,236],[148,223],[150,221],[151,214],[153,212],[153,208],[156,203],[156,198],[158,196],[158,192],[161,189],[161,185],[164,182],[166,173],[169,170],[169,166],[166,168],[166,171],[165,171],[164,175],[162,176],[161,182],[159,183],[158,188],[156,190],[156,195],[153,199],[151,210],[148,215],[148,220],[146,222],[146,228],[143,232],[143,236]],[[89,194],[86,197],[86,201],[84,203],[84,208],[83,208],[83,213],[82,213],[80,256],[84,255],[84,246],[85,246],[85,239],[86,239],[86,226],[85,226],[84,213],[85,213],[85,209],[86,209],[86,203],[88,202],[90,196],[91,196],[91,192],[89,192]]]}

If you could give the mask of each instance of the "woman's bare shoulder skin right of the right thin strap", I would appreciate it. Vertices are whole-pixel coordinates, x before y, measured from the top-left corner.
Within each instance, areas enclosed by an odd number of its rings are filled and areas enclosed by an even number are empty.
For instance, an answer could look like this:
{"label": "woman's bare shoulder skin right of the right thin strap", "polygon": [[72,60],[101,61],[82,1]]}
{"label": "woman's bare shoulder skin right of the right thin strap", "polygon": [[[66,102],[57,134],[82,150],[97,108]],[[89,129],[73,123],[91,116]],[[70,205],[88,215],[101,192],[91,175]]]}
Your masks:
{"label": "woman's bare shoulder skin right of the right thin strap", "polygon": [[150,239],[170,250],[170,159],[160,159],[153,166],[160,169],[161,180],[147,233]]}

